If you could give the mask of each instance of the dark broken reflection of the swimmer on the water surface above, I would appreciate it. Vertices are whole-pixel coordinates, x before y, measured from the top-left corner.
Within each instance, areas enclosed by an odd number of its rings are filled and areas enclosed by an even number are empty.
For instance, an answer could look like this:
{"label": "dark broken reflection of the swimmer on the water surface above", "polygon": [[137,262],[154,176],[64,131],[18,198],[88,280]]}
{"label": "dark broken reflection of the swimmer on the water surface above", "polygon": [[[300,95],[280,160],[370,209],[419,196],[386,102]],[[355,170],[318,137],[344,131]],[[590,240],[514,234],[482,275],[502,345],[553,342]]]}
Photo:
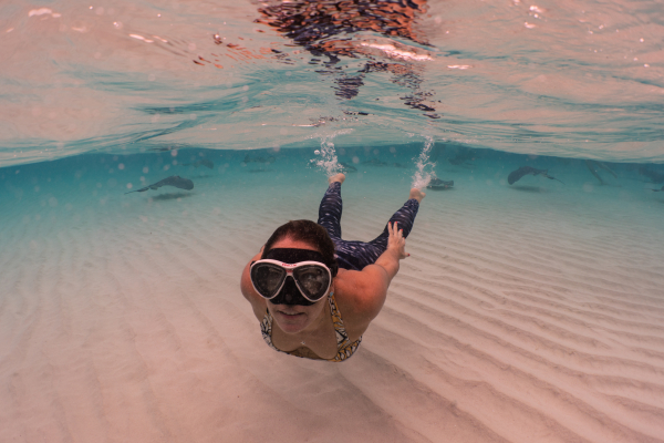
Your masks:
{"label": "dark broken reflection of the swimmer on the water surface above", "polygon": [[[422,66],[415,63],[432,60],[428,51],[421,48],[429,43],[416,25],[427,12],[426,0],[266,0],[260,4],[261,18],[256,22],[276,28],[309,51],[313,55],[310,64],[323,65],[317,72],[334,74],[336,96],[353,99],[364,85],[366,74],[390,72],[394,75],[393,83],[411,90],[400,97],[404,104],[430,119],[439,119],[433,92],[419,89]],[[329,61],[322,62],[319,59],[322,56]],[[349,75],[338,65],[341,56],[369,61]]]}

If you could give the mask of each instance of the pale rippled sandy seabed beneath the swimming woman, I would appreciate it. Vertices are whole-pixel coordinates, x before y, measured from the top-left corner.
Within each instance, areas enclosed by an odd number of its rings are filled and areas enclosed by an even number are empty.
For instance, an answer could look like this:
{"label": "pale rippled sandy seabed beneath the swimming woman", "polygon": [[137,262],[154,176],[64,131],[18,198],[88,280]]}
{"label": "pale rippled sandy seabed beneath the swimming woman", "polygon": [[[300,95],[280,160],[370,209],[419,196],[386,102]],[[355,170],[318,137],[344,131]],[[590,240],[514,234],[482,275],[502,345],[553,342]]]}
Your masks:
{"label": "pale rippled sandy seabed beneath the swimming woman", "polygon": [[[6,197],[0,442],[664,441],[663,197],[464,174],[344,363],[268,348],[239,291],[276,226],[315,219],[320,174]],[[350,174],[344,237],[408,182]]]}

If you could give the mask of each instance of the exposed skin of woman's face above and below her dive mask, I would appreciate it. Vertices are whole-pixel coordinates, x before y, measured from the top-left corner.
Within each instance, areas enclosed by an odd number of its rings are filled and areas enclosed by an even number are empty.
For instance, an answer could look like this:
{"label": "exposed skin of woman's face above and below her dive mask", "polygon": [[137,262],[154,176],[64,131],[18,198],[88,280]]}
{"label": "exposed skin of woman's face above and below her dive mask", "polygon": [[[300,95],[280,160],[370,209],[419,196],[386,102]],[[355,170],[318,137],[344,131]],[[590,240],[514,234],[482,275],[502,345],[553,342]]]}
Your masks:
{"label": "exposed skin of woman's face above and below her dive mask", "polygon": [[[276,241],[274,245],[272,245],[272,249],[276,248],[318,250],[307,243],[292,240],[290,238],[283,238]],[[332,290],[332,286],[330,287],[330,290]],[[298,333],[318,327],[318,321],[323,320],[326,300],[328,297],[323,297],[311,306],[274,305],[271,300],[267,301],[270,315],[279,329],[287,333]]]}

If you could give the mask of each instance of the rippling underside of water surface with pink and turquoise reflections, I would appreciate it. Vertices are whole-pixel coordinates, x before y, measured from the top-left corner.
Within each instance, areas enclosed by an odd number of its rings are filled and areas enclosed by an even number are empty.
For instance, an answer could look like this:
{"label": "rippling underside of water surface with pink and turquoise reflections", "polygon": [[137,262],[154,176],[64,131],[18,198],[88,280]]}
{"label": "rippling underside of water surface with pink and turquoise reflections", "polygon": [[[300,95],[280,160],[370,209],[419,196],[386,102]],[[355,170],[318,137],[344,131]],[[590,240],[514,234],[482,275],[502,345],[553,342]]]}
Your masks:
{"label": "rippling underside of water surface with pink and turquoise reflections", "polygon": [[660,163],[657,2],[0,7],[0,166],[382,146]]}

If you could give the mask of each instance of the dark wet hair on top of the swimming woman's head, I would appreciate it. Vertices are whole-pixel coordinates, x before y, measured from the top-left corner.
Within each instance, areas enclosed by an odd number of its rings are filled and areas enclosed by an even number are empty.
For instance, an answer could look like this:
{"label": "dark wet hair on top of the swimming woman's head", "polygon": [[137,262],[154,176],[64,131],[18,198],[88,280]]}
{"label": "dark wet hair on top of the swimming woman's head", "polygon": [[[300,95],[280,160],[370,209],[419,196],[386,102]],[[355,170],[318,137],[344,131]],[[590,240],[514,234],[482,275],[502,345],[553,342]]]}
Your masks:
{"label": "dark wet hair on top of the swimming woman's head", "polygon": [[290,220],[286,225],[281,225],[272,233],[261,258],[266,258],[266,255],[272,246],[284,238],[291,238],[293,240],[303,241],[309,246],[314,247],[319,253],[323,255],[325,265],[336,266],[336,259],[334,258],[334,243],[330,238],[328,230],[318,223],[311,220]]}

